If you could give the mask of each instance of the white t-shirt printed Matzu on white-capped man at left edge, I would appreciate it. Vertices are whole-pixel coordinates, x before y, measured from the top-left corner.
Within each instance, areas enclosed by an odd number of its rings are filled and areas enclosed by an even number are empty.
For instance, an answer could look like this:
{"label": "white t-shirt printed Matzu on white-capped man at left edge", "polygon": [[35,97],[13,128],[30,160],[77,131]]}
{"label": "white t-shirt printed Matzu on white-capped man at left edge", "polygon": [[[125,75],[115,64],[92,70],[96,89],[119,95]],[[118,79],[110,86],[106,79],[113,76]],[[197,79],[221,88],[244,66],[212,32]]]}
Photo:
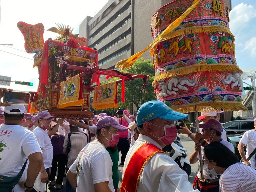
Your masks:
{"label": "white t-shirt printed Matzu on white-capped man at left edge", "polygon": [[[0,125],[0,175],[17,176],[32,153],[42,152],[33,132],[19,125]],[[27,162],[27,166],[28,166]],[[26,179],[26,169],[20,181]],[[14,192],[25,191],[18,184]]]}

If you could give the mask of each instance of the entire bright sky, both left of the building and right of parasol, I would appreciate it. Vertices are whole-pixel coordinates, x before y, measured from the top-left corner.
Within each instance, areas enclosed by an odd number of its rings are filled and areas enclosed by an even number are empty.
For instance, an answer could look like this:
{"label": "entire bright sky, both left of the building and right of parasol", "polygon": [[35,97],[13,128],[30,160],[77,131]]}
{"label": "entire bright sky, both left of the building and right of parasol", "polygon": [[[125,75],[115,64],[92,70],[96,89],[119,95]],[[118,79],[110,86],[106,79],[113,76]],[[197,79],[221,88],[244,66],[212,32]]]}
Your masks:
{"label": "entire bright sky, both left of the building and right of parasol", "polygon": [[[1,1],[1,0],[0,0]],[[71,3],[72,2],[72,3]],[[74,33],[79,32],[79,24],[86,15],[94,16],[108,0],[2,0],[0,44],[14,44],[6,47],[0,45],[0,75],[10,76],[12,80],[33,82],[34,86],[11,83],[15,90],[37,91],[38,72],[33,66],[33,54],[24,52],[23,35],[17,28],[17,22],[29,24],[43,23],[44,40],[54,38],[56,33],[46,31],[55,23],[63,23],[74,27]],[[232,0],[230,11],[230,29],[235,35],[236,59],[242,69],[256,68],[256,1]],[[16,49],[20,50],[16,50]],[[19,57],[17,54],[23,57]],[[2,86],[2,85],[0,85]],[[7,86],[8,87],[8,86]]]}

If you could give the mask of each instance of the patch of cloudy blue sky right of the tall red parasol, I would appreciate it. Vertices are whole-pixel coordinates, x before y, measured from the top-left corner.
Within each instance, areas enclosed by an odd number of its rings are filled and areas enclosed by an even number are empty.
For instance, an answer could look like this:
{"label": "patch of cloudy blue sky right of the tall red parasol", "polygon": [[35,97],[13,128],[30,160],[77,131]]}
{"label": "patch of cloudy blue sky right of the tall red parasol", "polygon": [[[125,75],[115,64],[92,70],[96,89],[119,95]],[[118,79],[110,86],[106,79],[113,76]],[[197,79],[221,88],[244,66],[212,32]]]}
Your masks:
{"label": "patch of cloudy blue sky right of the tall red parasol", "polygon": [[242,70],[256,68],[256,1],[232,0],[229,27],[235,36],[236,60]]}

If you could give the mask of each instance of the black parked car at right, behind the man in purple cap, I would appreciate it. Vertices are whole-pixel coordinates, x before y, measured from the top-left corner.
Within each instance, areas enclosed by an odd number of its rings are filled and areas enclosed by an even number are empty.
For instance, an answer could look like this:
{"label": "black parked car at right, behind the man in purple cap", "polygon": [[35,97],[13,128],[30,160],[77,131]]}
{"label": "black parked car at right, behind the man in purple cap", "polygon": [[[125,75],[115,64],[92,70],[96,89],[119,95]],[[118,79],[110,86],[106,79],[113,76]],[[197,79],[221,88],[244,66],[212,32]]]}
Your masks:
{"label": "black parked car at right, behind the man in purple cap", "polygon": [[225,128],[227,135],[237,135],[254,129],[253,119],[248,120],[235,120],[224,123],[222,126]]}

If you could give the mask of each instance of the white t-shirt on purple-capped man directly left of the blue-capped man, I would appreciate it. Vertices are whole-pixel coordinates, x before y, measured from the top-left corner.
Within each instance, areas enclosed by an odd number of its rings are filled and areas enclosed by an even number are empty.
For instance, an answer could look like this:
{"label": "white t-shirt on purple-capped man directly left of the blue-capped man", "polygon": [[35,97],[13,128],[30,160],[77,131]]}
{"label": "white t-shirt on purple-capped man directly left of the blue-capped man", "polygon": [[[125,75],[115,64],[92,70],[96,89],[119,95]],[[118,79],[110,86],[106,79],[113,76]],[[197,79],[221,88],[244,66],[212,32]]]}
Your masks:
{"label": "white t-shirt on purple-capped man directly left of the blue-capped man", "polygon": [[105,181],[109,181],[108,186],[114,192],[112,164],[104,145],[96,141],[86,145],[69,168],[72,173],[77,172],[77,192],[95,191],[94,184]]}

